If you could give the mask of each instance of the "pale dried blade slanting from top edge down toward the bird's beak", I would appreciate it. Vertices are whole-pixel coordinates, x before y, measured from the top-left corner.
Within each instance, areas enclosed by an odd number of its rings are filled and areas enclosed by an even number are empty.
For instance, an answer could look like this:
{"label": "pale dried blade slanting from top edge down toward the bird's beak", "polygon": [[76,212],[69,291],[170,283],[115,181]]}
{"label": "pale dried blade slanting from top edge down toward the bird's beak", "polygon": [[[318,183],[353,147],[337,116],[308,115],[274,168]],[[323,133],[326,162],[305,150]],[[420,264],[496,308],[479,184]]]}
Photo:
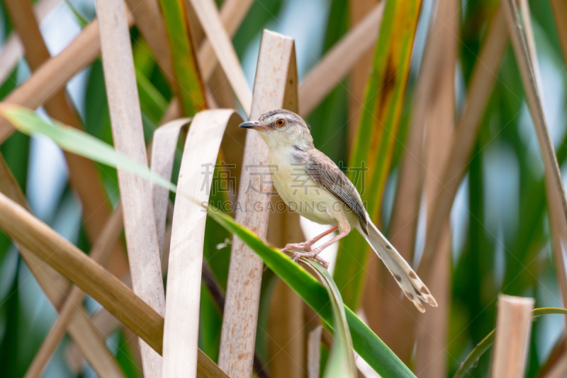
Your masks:
{"label": "pale dried blade slanting from top edge down toward the bird's beak", "polygon": [[[213,0],[185,0],[185,4],[186,8],[193,7],[210,45],[215,50],[218,62],[223,67],[230,86],[232,86],[232,91],[235,92],[242,109],[249,115],[249,109],[252,106],[252,94],[244,71],[240,67],[235,48],[230,41],[230,36],[220,20],[216,4]],[[211,68],[214,68],[212,64],[208,66],[208,69]],[[203,77],[208,76],[210,76],[210,73],[208,75],[203,73]]]}

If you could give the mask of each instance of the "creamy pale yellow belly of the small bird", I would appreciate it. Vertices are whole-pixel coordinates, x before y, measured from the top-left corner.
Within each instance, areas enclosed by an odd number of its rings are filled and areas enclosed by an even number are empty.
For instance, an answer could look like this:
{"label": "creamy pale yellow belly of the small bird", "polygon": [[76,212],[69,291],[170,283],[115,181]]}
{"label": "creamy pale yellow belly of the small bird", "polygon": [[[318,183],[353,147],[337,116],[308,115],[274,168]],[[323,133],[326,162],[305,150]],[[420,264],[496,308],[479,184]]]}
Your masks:
{"label": "creamy pale yellow belly of the small bird", "polygon": [[320,188],[303,166],[274,157],[269,156],[271,176],[279,196],[289,209],[313,222],[337,224],[332,210],[342,209],[342,202],[328,190]]}

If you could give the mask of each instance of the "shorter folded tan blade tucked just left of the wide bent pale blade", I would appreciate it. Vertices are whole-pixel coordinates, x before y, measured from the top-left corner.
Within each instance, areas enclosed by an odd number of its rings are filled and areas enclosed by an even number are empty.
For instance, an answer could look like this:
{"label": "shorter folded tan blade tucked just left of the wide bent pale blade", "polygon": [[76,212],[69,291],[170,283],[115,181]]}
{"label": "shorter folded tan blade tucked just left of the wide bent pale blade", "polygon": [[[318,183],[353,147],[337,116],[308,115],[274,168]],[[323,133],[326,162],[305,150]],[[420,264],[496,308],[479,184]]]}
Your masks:
{"label": "shorter folded tan blade tucked just left of the wide bent pale blade", "polygon": [[[189,122],[191,122],[191,118],[172,120],[167,122],[165,125],[160,126],[154,132],[151,155],[152,162],[150,164],[150,168],[153,172],[168,181],[172,178],[173,163],[175,159],[175,150],[177,148],[177,139],[179,139],[179,132],[181,131],[181,127],[184,127]],[[151,185],[155,227],[157,230],[157,244],[159,245],[159,256],[162,256],[169,190],[153,182]]]}

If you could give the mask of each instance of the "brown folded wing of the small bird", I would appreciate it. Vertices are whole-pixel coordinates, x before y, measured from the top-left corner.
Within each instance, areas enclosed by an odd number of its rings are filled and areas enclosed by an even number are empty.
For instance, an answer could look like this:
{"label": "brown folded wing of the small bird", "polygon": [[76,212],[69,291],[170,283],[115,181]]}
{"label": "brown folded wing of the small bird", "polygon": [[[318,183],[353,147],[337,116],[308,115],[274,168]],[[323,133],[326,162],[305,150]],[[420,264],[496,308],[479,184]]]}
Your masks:
{"label": "brown folded wing of the small bird", "polygon": [[332,195],[344,202],[354,214],[357,214],[362,229],[368,234],[366,210],[364,210],[357,188],[352,185],[347,176],[344,176],[337,164],[321,151],[313,149],[313,152],[309,154],[306,168],[315,183],[329,190]]}

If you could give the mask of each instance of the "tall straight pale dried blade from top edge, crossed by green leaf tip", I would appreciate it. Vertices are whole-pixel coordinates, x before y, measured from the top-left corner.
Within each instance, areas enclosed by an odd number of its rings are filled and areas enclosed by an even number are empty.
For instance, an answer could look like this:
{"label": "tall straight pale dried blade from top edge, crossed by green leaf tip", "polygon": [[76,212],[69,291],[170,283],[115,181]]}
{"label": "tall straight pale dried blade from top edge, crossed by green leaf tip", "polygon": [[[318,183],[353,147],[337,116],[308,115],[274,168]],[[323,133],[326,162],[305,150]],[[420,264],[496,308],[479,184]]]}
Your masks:
{"label": "tall straight pale dried blade from top edge, crossed by green leaf tip", "polygon": [[[96,14],[114,145],[140,166],[147,167],[125,9],[120,1],[99,0],[96,1]],[[134,292],[163,315],[165,294],[150,183],[120,169],[118,181]],[[140,353],[145,376],[161,377],[162,357],[142,340]]]}

